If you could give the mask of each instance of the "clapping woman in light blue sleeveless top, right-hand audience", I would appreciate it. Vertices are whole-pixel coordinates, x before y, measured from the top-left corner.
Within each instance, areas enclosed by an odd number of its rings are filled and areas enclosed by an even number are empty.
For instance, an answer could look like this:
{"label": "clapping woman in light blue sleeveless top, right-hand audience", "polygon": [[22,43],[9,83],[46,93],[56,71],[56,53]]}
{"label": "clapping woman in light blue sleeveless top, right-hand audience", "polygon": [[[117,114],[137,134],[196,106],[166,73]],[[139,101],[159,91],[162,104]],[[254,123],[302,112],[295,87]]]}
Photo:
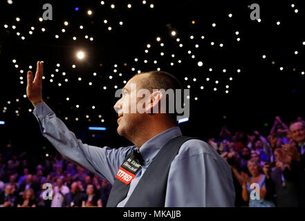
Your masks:
{"label": "clapping woman in light blue sleeveless top, right-hand audience", "polygon": [[[261,173],[261,164],[259,161],[253,159],[249,160],[248,169],[251,177],[249,177],[248,174],[241,172],[241,177],[243,178],[243,200],[249,202],[249,207],[274,207],[275,204],[273,202],[264,200],[267,195],[266,175]],[[250,193],[253,191],[253,189],[250,188],[252,183],[259,184],[259,200],[250,197]]]}

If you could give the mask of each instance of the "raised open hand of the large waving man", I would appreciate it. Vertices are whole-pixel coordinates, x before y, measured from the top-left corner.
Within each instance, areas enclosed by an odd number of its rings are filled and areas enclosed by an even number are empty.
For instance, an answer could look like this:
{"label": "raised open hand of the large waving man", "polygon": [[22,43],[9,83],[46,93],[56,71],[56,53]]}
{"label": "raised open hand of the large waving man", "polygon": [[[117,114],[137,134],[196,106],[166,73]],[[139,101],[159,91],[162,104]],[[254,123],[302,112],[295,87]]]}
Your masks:
{"label": "raised open hand of the large waving man", "polygon": [[42,100],[42,75],[44,73],[44,63],[37,61],[37,70],[33,81],[32,71],[28,71],[28,86],[26,86],[26,95],[33,106],[37,106]]}

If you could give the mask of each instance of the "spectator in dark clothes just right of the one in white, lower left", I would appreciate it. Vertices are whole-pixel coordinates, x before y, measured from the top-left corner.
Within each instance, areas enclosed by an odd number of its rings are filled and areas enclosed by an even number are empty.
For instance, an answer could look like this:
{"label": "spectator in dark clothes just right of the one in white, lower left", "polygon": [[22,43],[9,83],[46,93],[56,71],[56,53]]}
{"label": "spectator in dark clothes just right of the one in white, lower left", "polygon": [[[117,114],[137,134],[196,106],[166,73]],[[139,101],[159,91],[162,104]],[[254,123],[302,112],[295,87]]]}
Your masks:
{"label": "spectator in dark clothes just right of the one in white, lower left", "polygon": [[62,207],[80,207],[82,206],[83,199],[84,193],[80,191],[77,182],[73,182],[71,184],[71,191],[64,196]]}

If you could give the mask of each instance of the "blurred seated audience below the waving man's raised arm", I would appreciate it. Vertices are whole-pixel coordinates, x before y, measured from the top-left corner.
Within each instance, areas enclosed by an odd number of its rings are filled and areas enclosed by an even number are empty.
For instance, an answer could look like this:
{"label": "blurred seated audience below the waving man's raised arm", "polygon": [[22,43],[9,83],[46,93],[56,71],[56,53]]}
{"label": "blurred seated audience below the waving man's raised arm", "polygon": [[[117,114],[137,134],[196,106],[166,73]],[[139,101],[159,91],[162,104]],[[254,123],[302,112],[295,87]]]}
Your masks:
{"label": "blurred seated audience below the waving man's raised arm", "polygon": [[[17,154],[11,144],[0,152],[1,207],[76,207],[106,206],[111,184],[59,153],[44,159]],[[52,184],[52,200],[48,186]]]}

